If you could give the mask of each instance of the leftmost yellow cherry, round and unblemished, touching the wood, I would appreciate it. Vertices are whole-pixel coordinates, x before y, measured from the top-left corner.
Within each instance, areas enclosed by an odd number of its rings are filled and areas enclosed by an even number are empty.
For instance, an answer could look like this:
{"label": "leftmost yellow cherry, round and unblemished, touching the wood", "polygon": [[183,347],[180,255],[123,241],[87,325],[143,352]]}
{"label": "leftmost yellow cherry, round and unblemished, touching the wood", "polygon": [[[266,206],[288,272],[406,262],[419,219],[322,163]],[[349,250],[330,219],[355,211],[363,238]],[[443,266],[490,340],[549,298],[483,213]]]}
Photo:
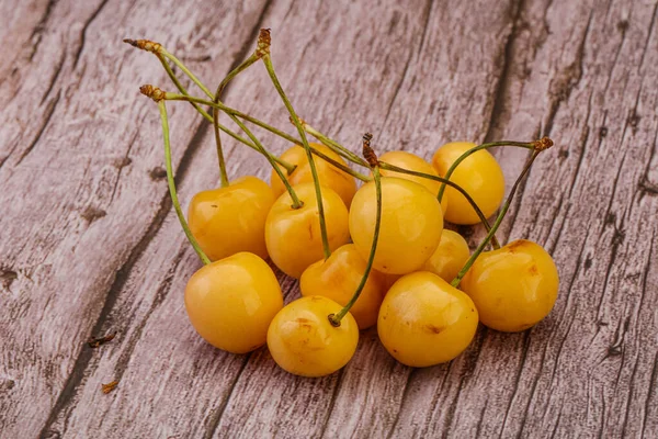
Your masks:
{"label": "leftmost yellow cherry, round and unblemished, touching the wood", "polygon": [[185,286],[185,309],[194,329],[232,353],[264,345],[270,322],[282,307],[274,272],[246,251],[202,267]]}

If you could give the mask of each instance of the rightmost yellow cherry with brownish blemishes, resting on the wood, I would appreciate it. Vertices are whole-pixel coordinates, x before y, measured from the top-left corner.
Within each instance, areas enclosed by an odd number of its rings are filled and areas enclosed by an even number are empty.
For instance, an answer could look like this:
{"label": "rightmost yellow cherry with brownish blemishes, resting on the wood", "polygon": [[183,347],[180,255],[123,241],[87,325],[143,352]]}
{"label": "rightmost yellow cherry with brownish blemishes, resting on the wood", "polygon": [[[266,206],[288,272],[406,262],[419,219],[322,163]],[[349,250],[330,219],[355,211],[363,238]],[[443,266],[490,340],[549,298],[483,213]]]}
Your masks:
{"label": "rightmost yellow cherry with brownish blemishes, resting on the wood", "polygon": [[475,302],[484,325],[518,333],[536,325],[553,309],[559,274],[542,246],[520,239],[483,252],[461,288]]}

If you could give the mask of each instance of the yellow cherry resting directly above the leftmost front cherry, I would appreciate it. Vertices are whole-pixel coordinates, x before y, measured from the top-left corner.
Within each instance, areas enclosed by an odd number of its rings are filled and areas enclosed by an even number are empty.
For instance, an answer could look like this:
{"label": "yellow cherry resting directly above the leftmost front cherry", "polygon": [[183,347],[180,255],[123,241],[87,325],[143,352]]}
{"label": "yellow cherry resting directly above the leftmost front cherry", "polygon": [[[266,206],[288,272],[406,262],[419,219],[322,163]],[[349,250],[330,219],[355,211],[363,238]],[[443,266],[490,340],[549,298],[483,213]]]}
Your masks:
{"label": "yellow cherry resting directly above the leftmost front cherry", "polygon": [[188,213],[190,229],[211,260],[239,251],[266,259],[265,218],[274,200],[264,181],[239,178],[226,188],[194,195]]}

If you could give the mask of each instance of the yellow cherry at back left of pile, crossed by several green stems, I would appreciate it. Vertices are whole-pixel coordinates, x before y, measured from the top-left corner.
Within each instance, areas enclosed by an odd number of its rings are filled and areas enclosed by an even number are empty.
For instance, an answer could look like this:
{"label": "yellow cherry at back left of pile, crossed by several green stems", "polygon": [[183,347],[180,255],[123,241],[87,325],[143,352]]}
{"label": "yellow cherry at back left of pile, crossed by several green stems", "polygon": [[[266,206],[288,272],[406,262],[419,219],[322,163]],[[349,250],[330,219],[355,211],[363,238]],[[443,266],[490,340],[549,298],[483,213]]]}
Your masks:
{"label": "yellow cherry at back left of pile, crossed by several green stems", "polygon": [[[309,146],[322,153],[327,157],[338,161],[339,164],[348,166],[342,157],[333,153],[325,145],[309,143]],[[297,166],[290,176],[286,176],[291,185],[313,182],[313,173],[310,172],[310,166],[308,165],[306,150],[303,146],[295,145],[288,148],[281,155],[281,158],[291,165]],[[316,155],[314,155],[313,158],[320,184],[333,189],[345,203],[345,206],[349,207],[350,203],[352,202],[352,198],[356,192],[356,181],[354,181],[354,178]],[[283,172],[285,175],[285,169],[283,169]],[[275,196],[280,196],[285,192],[285,185],[283,184],[283,181],[281,181],[274,170],[272,170],[272,175],[270,177],[270,184],[272,185]]]}

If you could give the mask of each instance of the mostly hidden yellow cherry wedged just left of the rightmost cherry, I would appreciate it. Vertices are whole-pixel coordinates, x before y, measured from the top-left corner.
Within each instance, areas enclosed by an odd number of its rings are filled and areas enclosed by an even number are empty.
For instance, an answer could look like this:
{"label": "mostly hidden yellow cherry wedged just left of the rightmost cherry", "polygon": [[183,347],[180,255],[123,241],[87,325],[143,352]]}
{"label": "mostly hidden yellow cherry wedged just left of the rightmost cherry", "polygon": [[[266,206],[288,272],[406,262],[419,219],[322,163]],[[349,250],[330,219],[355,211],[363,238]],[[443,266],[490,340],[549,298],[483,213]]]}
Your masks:
{"label": "mostly hidden yellow cherry wedged just left of the rightmost cherry", "polygon": [[423,270],[430,271],[446,282],[451,282],[468,258],[470,250],[468,243],[456,232],[443,229],[441,243],[434,254],[426,262]]}

